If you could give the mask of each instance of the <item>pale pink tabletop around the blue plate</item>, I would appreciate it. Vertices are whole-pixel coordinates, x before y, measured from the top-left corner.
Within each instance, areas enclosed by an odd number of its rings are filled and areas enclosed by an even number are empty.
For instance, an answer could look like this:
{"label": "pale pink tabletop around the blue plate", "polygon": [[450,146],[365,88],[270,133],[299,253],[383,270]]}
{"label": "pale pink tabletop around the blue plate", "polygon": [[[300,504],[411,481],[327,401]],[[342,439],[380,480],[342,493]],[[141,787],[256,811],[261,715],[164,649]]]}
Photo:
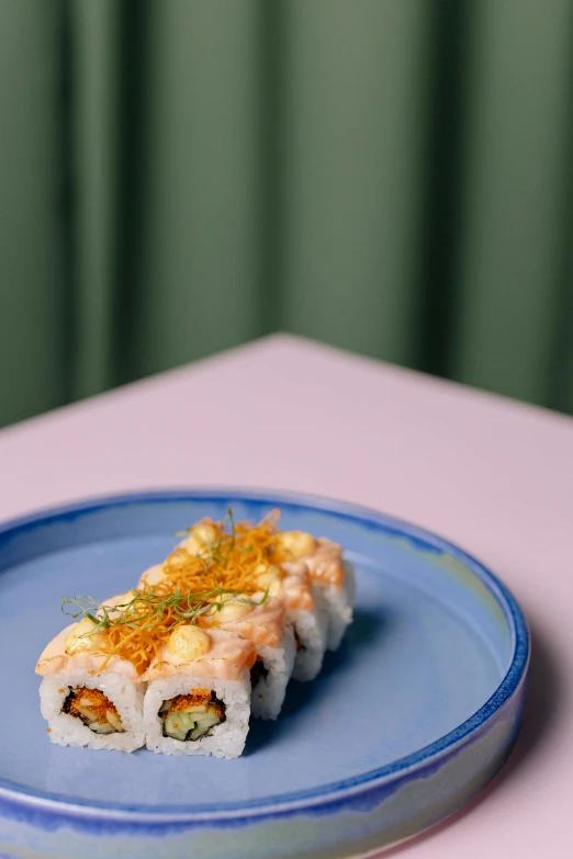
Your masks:
{"label": "pale pink tabletop around the blue plate", "polygon": [[458,542],[533,635],[525,725],[472,805],[413,859],[564,857],[573,795],[573,421],[277,335],[0,432],[0,518],[149,487],[302,490]]}

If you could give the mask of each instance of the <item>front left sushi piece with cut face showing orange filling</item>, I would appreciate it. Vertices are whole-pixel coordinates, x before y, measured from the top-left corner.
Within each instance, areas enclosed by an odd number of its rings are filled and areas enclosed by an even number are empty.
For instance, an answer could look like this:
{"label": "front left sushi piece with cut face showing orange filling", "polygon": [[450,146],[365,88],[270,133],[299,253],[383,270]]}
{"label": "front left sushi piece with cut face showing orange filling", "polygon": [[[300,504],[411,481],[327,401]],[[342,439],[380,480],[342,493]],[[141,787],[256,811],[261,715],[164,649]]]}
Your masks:
{"label": "front left sushi piece with cut face showing orange filling", "polygon": [[59,746],[134,751],[145,744],[145,683],[134,665],[101,652],[88,618],[66,626],[36,665],[42,715]]}

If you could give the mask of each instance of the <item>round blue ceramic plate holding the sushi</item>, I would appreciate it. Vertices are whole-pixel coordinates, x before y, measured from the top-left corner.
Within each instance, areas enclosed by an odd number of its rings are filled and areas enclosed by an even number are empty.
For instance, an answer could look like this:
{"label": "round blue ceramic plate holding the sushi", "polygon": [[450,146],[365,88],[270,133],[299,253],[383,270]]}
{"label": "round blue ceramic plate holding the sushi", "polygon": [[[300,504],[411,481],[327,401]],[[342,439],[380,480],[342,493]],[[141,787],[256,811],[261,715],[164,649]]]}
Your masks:
{"label": "round blue ceramic plate holding the sushi", "polygon": [[[40,715],[36,658],[60,597],[132,587],[203,516],[282,511],[340,542],[356,620],[321,677],[291,683],[238,760],[60,748]],[[334,859],[442,820],[515,739],[529,642],[506,588],[420,529],[322,499],[221,490],[113,497],[0,529],[0,854],[58,859]]]}

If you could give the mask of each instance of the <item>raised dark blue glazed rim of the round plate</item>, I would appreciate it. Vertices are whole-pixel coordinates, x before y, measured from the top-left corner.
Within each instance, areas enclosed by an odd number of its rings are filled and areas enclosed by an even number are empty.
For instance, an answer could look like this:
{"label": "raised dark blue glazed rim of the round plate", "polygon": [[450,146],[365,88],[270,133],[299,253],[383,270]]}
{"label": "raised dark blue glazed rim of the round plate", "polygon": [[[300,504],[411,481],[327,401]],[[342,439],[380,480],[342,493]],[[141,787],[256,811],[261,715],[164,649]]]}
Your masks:
{"label": "raised dark blue glazed rim of the round plate", "polygon": [[[132,504],[170,502],[186,500],[236,500],[259,504],[273,504],[278,507],[293,506],[308,510],[321,510],[342,519],[351,519],[385,533],[408,539],[418,546],[436,553],[448,554],[467,566],[487,588],[504,613],[512,632],[512,657],[509,667],[495,691],[469,719],[423,748],[378,767],[359,776],[321,785],[319,788],[293,791],[282,796],[261,798],[248,802],[234,802],[228,805],[207,806],[193,812],[188,805],[120,805],[91,800],[70,800],[70,798],[49,791],[25,788],[0,777],[0,807],[10,805],[24,812],[26,809],[44,810],[69,817],[85,817],[103,821],[149,824],[207,823],[246,818],[274,817],[306,807],[322,804],[333,805],[366,791],[374,790],[422,770],[440,758],[454,751],[458,746],[469,744],[471,738],[492,720],[520,690],[529,666],[530,633],[518,601],[506,585],[481,561],[461,549],[449,539],[400,517],[384,513],[375,508],[329,498],[322,495],[288,491],[281,489],[257,489],[238,486],[177,486],[172,488],[136,489],[133,491],[89,496],[77,501],[38,508],[0,523],[0,541],[9,533],[25,531],[49,520],[72,517],[78,513],[97,511],[110,507],[125,507]],[[0,545],[1,550],[1,545]],[[0,570],[0,575],[1,575]]]}

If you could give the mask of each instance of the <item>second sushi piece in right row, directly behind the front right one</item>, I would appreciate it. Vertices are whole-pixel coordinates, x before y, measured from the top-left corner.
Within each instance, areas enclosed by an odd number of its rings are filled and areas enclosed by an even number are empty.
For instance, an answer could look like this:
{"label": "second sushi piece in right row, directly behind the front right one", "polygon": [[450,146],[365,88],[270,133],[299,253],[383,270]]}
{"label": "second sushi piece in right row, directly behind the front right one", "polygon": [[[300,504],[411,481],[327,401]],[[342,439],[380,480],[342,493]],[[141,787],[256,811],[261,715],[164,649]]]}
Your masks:
{"label": "second sushi piece in right row, directly behind the front right one", "polygon": [[257,719],[277,719],[291,678],[296,647],[292,625],[285,625],[284,603],[278,597],[256,594],[249,602],[227,600],[198,622],[204,629],[218,628],[252,642],[256,660],[250,669],[250,712]]}

